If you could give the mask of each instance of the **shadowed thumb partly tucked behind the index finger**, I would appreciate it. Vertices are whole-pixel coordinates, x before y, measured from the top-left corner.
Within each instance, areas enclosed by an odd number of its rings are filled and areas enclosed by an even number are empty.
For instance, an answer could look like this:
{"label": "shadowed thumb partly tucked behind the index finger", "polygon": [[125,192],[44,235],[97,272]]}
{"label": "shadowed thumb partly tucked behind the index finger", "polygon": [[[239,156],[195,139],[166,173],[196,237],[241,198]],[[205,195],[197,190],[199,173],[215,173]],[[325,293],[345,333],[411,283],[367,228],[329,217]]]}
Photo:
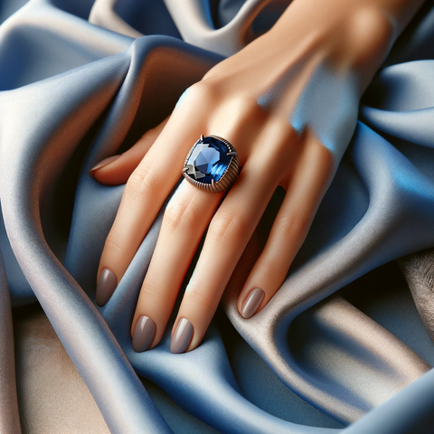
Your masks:
{"label": "shadowed thumb partly tucked behind the index finger", "polygon": [[125,184],[129,176],[136,169],[148,149],[156,141],[156,137],[165,127],[170,116],[165,118],[156,127],[148,129],[146,133],[126,152],[118,156],[108,156],[90,169],[92,175],[99,183],[108,185]]}

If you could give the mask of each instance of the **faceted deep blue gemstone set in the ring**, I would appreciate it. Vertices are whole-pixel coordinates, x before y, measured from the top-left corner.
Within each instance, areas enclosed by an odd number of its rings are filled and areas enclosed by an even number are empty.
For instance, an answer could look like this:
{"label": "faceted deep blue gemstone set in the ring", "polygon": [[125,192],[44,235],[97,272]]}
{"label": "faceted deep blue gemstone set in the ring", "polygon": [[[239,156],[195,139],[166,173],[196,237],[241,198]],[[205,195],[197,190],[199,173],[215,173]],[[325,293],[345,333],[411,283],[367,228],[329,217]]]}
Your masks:
{"label": "faceted deep blue gemstone set in the ring", "polygon": [[205,184],[217,182],[231,162],[228,146],[214,137],[203,137],[198,140],[189,156],[187,175]]}

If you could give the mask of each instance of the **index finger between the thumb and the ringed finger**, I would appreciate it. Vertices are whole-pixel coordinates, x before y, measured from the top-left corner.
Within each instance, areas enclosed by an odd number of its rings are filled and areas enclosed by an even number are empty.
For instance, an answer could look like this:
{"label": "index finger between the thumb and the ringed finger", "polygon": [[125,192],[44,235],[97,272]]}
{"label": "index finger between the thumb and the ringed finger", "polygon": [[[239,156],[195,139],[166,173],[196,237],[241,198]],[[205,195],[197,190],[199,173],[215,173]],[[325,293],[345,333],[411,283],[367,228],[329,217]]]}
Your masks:
{"label": "index finger between the thumb and the ringed finger", "polygon": [[[156,142],[127,180],[113,226],[99,260],[96,301],[105,305],[118,286],[156,214],[177,180],[184,158],[203,132],[193,104],[175,110]],[[193,125],[191,119],[195,119]]]}

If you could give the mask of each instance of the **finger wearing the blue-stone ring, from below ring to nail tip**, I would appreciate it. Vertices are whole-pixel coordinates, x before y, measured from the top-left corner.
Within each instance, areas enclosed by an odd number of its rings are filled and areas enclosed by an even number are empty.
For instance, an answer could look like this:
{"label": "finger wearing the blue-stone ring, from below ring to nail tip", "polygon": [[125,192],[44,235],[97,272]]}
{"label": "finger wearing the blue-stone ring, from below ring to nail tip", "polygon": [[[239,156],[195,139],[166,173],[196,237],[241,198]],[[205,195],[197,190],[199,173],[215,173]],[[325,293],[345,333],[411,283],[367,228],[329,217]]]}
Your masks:
{"label": "finger wearing the blue-stone ring, from below ring to nail tip", "polygon": [[184,179],[167,203],[131,325],[135,351],[153,348],[162,338],[194,252],[223,194],[204,192]]}

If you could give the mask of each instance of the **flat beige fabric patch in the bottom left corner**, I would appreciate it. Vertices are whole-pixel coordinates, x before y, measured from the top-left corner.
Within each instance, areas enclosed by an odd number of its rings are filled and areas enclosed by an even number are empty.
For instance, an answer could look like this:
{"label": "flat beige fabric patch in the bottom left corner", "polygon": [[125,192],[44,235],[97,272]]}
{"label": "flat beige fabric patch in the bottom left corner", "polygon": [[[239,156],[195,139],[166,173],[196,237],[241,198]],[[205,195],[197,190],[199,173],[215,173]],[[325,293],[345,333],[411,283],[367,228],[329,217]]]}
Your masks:
{"label": "flat beige fabric patch in the bottom left corner", "polygon": [[23,432],[109,433],[86,383],[42,308],[39,305],[16,308],[13,316],[16,385]]}

